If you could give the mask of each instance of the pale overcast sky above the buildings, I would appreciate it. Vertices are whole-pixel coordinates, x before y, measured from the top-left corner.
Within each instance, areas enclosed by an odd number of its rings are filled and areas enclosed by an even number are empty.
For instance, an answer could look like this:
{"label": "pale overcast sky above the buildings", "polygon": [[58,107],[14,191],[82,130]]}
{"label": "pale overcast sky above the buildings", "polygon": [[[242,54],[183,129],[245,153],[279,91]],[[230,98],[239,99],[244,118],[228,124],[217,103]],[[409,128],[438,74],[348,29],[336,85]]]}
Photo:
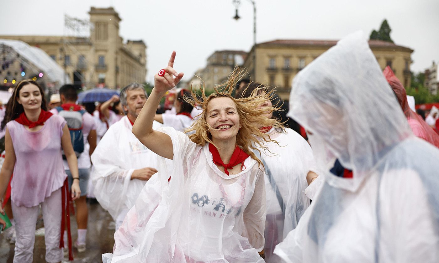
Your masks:
{"label": "pale overcast sky above the buildings", "polygon": [[[356,30],[369,36],[386,18],[396,44],[412,53],[412,71],[439,60],[439,0],[255,0],[257,43],[274,39],[341,39]],[[120,36],[147,44],[147,80],[167,65],[189,79],[215,50],[249,51],[253,10],[241,0],[0,0],[0,35],[65,34],[64,14],[88,19],[90,7],[114,7]]]}

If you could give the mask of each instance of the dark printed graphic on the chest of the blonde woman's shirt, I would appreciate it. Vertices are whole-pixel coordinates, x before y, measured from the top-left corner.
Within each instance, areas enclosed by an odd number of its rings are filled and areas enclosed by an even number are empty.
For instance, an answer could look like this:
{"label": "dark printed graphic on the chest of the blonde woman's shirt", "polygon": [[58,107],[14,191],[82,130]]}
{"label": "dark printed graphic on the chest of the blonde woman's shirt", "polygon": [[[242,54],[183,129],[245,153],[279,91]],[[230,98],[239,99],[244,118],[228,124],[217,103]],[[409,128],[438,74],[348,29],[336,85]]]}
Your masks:
{"label": "dark printed graphic on the chest of the blonde woman's shirt", "polygon": [[222,218],[225,216],[237,217],[241,214],[241,206],[230,206],[224,197],[209,199],[207,195],[199,196],[198,193],[194,193],[191,196],[191,201],[194,210],[197,210],[195,208],[202,208],[207,216]]}

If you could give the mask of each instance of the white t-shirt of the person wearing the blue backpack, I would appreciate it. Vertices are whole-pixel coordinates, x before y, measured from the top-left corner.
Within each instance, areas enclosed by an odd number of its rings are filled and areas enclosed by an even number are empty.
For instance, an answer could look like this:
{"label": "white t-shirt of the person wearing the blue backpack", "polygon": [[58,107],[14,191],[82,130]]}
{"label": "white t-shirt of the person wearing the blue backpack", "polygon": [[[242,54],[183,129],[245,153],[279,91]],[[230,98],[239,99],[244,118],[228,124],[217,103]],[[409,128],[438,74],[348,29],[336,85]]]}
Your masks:
{"label": "white t-shirt of the person wearing the blue backpack", "polygon": [[[58,110],[56,108],[50,110],[50,112],[58,115]],[[87,143],[88,135],[90,134],[90,131],[93,130],[96,130],[94,118],[93,116],[91,116],[90,113],[86,112],[83,114],[84,151],[78,157],[78,169],[89,169],[91,167],[90,154],[89,154],[90,146],[87,147],[86,145],[88,145]],[[67,161],[63,160],[63,163],[64,163],[64,169],[70,170]]]}

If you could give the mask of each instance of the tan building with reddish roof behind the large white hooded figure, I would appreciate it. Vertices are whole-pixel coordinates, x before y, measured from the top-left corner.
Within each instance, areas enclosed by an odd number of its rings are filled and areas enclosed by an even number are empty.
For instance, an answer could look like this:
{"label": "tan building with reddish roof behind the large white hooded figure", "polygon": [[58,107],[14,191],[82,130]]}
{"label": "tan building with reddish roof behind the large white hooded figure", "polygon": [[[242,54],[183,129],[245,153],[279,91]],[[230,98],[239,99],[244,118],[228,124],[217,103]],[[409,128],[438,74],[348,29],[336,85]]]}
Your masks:
{"label": "tan building with reddish roof behind the large white hooded figure", "polygon": [[[335,40],[291,39],[259,43],[252,47],[242,67],[252,80],[276,87],[281,98],[288,100],[294,76],[336,43]],[[389,65],[403,85],[410,86],[414,50],[381,40],[370,40],[369,46],[381,69]]]}

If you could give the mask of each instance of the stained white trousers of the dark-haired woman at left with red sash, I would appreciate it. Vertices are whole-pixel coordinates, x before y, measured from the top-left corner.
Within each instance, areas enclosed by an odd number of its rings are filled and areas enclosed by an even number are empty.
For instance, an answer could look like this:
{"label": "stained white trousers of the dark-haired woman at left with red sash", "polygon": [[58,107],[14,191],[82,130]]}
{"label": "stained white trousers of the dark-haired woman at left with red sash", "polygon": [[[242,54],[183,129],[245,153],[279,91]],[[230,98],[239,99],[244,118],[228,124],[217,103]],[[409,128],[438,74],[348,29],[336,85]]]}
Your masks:
{"label": "stained white trousers of the dark-haired woman at left with red sash", "polygon": [[[44,220],[44,240],[46,242],[46,261],[60,262],[64,258],[59,248],[61,237],[61,188],[54,191],[41,203]],[[39,206],[15,206],[12,202],[12,213],[15,220],[15,254],[14,263],[28,263],[33,260],[36,220]]]}

